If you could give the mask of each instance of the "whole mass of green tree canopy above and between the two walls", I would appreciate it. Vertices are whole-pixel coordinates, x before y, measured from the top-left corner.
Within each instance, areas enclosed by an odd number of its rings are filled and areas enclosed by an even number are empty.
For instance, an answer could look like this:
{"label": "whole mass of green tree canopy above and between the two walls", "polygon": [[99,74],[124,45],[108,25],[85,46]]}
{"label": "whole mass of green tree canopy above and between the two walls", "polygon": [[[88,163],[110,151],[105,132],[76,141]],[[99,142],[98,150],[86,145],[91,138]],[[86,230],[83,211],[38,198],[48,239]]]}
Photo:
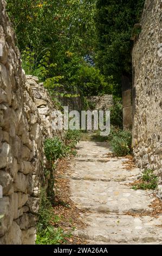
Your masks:
{"label": "whole mass of green tree canopy above and between the two walls", "polygon": [[121,95],[144,0],[7,0],[27,74],[64,94]]}

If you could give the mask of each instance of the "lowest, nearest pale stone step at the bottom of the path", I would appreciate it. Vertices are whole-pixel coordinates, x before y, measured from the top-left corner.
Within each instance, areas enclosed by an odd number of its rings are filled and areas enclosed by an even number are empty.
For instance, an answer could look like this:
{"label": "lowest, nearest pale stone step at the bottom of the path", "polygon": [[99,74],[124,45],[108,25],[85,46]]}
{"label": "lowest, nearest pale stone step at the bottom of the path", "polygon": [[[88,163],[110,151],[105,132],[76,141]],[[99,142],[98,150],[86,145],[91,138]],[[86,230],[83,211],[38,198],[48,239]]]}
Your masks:
{"label": "lowest, nearest pale stone step at the bottom of the path", "polygon": [[[75,234],[89,244],[159,244],[162,243],[162,216],[132,217],[128,215],[87,214],[87,228]],[[159,228],[158,228],[159,227]]]}

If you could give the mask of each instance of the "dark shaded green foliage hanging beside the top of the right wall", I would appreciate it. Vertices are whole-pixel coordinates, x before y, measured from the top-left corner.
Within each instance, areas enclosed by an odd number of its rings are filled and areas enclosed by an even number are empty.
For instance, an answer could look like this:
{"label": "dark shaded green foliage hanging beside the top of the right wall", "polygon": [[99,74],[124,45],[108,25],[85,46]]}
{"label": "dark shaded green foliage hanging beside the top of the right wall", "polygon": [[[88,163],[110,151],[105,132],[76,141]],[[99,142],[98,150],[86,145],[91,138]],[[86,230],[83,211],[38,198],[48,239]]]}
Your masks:
{"label": "dark shaded green foliage hanging beside the top of the right wall", "polygon": [[118,88],[121,76],[131,77],[132,30],[139,22],[145,0],[98,0],[96,29],[98,31],[97,63],[102,73],[113,76]]}

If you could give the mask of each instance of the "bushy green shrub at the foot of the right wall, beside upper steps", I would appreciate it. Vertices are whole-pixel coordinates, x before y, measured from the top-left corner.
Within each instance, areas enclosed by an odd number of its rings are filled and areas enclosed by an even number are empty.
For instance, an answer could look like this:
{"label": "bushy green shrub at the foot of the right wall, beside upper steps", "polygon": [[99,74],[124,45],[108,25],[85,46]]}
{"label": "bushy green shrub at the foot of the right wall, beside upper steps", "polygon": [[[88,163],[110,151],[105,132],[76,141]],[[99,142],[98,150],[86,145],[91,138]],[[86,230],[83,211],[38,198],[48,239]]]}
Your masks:
{"label": "bushy green shrub at the foot of the right wall, beside upper steps", "polygon": [[116,156],[126,156],[131,154],[131,132],[114,129],[114,127],[112,127],[108,139],[113,147],[113,152]]}

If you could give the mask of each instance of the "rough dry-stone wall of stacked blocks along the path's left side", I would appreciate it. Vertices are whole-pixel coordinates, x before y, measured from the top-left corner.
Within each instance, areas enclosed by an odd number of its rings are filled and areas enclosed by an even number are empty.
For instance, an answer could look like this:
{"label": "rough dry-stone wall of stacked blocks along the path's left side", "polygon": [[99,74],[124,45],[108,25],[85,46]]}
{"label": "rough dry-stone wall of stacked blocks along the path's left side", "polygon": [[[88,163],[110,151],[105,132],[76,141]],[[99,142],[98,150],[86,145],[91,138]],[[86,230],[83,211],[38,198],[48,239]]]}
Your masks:
{"label": "rough dry-stone wall of stacked blocks along the path's left side", "polygon": [[0,0],[0,244],[33,244],[38,194],[48,186],[43,141],[62,133],[52,129],[56,115],[43,84],[25,77],[14,37]]}

